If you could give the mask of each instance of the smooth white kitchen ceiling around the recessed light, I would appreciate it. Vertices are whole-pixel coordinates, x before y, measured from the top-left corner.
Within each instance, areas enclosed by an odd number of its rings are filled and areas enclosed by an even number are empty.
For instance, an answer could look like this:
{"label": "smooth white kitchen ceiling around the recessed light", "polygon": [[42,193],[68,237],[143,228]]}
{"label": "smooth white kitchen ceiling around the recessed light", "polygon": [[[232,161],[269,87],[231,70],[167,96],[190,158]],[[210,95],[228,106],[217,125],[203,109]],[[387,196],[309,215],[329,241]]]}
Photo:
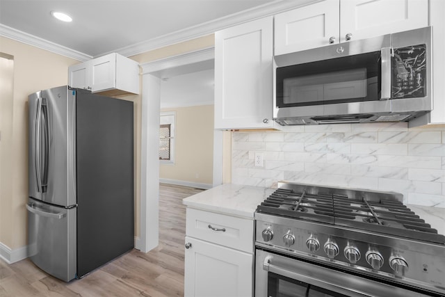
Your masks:
{"label": "smooth white kitchen ceiling around the recessed light", "polygon": [[[0,24],[95,57],[280,1],[0,0]],[[73,21],[60,22],[51,10]]]}

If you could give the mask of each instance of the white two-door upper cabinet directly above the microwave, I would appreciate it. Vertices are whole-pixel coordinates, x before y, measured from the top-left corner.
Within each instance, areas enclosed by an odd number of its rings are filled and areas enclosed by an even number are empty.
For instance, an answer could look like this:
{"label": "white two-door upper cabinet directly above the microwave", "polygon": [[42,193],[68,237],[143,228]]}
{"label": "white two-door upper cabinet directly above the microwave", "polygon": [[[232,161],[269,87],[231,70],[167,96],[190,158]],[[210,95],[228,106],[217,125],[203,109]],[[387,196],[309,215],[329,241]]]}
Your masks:
{"label": "white two-door upper cabinet directly above the microwave", "polygon": [[275,15],[275,55],[423,26],[427,0],[325,0]]}

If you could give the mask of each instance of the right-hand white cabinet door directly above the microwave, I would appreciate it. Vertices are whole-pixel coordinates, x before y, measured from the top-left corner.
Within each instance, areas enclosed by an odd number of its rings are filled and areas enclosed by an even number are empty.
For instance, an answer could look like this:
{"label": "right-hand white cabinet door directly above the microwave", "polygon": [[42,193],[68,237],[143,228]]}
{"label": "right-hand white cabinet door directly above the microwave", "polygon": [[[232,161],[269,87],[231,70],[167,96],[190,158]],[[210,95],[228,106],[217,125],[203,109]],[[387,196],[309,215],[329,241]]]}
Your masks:
{"label": "right-hand white cabinet door directly above the microwave", "polygon": [[426,0],[341,0],[340,42],[428,26]]}

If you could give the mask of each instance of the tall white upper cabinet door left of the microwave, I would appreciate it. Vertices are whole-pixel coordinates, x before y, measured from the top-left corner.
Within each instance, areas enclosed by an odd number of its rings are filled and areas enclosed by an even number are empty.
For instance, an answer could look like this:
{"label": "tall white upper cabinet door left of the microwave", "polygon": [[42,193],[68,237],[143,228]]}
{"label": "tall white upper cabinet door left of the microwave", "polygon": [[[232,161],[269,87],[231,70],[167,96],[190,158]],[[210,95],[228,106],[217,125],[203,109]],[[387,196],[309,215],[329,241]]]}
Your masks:
{"label": "tall white upper cabinet door left of the microwave", "polygon": [[273,17],[215,33],[215,129],[273,127]]}

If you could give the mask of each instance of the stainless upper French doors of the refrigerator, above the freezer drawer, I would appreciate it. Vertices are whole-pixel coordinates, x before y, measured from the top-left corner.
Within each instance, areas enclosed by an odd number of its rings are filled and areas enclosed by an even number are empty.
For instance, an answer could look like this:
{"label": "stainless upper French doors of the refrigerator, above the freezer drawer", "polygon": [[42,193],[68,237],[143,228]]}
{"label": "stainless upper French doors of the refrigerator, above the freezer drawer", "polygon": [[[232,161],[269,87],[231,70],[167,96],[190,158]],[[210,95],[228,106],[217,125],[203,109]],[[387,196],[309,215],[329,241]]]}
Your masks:
{"label": "stainless upper French doors of the refrigerator, above the freezer drawer", "polygon": [[76,204],[76,91],[67,86],[29,95],[29,197]]}

